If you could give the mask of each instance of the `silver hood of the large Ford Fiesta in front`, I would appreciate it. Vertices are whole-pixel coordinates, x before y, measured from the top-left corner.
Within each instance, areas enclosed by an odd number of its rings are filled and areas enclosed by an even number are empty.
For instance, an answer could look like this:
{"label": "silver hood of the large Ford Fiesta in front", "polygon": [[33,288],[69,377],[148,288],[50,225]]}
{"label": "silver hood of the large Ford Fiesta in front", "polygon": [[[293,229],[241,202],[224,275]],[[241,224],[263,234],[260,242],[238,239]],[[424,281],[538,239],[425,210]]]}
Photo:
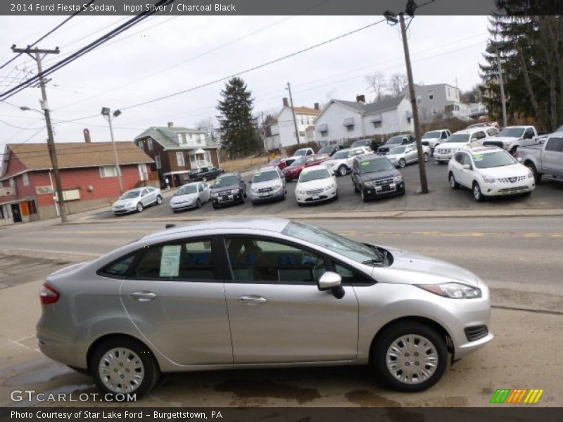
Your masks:
{"label": "silver hood of the large Ford Fiesta in front", "polygon": [[[374,278],[383,283],[433,284],[455,281],[478,287],[479,278],[468,269],[414,252],[382,247],[393,255],[390,267],[374,267]],[[400,272],[398,273],[398,271]]]}

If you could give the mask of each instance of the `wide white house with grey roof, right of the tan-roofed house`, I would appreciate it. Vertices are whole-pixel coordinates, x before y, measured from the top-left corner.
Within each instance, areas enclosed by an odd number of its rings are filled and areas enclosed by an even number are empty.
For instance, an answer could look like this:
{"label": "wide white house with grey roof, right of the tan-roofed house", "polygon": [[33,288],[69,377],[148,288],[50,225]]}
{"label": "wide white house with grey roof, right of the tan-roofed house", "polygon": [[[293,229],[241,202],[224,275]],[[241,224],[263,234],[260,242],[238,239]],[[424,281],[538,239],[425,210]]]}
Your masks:
{"label": "wide white house with grey roof, right of the tan-roofed house", "polygon": [[406,94],[386,98],[377,103],[365,103],[364,96],[356,101],[331,100],[315,120],[317,141],[340,142],[346,139],[414,132],[412,107]]}

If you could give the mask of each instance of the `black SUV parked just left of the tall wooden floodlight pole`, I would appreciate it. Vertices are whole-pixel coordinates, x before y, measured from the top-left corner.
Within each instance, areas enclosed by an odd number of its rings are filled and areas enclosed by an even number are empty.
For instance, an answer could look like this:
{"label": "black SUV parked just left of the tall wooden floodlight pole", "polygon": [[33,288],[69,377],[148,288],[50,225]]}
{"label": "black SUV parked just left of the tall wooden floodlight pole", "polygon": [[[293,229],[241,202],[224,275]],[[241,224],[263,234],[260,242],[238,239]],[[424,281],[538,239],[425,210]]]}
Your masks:
{"label": "black SUV parked just left of the tall wooden floodlight pole", "polygon": [[381,196],[403,195],[403,176],[387,157],[369,154],[356,157],[352,164],[354,191],[360,192],[362,201]]}

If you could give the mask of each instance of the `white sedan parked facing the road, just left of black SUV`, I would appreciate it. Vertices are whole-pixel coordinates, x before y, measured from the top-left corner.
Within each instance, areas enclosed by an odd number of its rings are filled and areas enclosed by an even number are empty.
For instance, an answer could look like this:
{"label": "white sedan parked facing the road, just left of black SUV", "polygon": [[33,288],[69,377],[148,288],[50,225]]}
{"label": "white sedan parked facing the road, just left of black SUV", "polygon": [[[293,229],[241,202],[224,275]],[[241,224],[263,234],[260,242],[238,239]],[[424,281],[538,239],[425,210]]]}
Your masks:
{"label": "white sedan parked facing the road, just left of black SUV", "polygon": [[305,167],[295,188],[298,205],[322,202],[338,198],[336,177],[323,164]]}

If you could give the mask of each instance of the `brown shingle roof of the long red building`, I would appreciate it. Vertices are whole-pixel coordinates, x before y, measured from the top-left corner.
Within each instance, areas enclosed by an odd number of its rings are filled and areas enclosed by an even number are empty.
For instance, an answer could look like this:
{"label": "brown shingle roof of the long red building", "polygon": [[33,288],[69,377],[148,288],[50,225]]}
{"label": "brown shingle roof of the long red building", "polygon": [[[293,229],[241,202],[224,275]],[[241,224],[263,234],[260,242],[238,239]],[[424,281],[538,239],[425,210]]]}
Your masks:
{"label": "brown shingle roof of the long red building", "polygon": [[[113,144],[111,142],[66,142],[55,144],[58,167],[99,167],[115,165]],[[133,142],[116,142],[120,165],[153,162],[153,160],[139,149]],[[11,154],[29,170],[44,170],[51,168],[51,158],[46,143],[9,143],[6,145],[5,160]]]}

